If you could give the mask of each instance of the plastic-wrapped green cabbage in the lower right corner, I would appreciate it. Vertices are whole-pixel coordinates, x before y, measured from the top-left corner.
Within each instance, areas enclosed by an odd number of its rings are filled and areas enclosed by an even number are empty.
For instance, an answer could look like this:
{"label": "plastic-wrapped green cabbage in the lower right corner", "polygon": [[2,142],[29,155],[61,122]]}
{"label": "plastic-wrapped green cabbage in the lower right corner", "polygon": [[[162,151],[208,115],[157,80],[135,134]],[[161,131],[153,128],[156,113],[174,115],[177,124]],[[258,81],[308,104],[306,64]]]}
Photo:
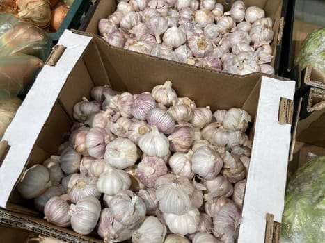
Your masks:
{"label": "plastic-wrapped green cabbage in the lower right corner", "polygon": [[325,156],[300,167],[287,185],[281,243],[325,240]]}

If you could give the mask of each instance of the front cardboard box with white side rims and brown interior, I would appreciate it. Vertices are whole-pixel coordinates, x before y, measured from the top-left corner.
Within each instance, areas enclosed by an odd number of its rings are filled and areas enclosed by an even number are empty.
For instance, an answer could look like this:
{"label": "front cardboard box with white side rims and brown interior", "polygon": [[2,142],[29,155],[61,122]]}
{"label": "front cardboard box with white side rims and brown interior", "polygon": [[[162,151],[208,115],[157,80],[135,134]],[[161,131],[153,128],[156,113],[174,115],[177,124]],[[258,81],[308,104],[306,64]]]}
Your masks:
{"label": "front cardboard box with white side rims and brown interior", "polygon": [[54,66],[43,67],[3,136],[8,147],[0,167],[0,222],[68,242],[102,242],[94,235],[78,235],[47,223],[15,185],[24,169],[56,154],[72,126],[74,104],[81,97],[89,98],[91,87],[108,84],[121,92],[139,93],[170,80],[180,97],[194,99],[197,106],[243,108],[253,117],[253,150],[238,242],[272,242],[284,205],[294,81],[214,72],[118,49],[98,37],[70,31],[58,44],[66,49],[54,58]]}

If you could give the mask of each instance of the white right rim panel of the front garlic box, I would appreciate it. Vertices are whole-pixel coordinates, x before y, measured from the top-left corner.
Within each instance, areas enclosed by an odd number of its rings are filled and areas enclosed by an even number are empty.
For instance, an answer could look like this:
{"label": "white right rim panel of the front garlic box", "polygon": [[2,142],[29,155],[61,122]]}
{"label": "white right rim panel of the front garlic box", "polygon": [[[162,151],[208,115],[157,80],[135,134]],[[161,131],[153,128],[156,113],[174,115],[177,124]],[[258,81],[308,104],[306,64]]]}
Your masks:
{"label": "white right rim panel of the front garlic box", "polygon": [[264,242],[267,213],[281,222],[291,125],[278,123],[278,110],[280,97],[293,99],[294,85],[262,77],[239,243]]}

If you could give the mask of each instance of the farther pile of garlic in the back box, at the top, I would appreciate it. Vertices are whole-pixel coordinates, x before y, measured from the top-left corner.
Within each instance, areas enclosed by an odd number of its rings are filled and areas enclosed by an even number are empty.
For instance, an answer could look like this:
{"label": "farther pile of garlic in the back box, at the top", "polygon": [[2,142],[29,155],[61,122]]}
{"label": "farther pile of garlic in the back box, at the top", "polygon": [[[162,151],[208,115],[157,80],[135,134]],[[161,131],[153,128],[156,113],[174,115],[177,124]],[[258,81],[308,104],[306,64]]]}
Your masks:
{"label": "farther pile of garlic in the back box, at the top", "polygon": [[121,0],[100,35],[114,47],[232,74],[274,74],[274,22],[257,6],[216,0]]}

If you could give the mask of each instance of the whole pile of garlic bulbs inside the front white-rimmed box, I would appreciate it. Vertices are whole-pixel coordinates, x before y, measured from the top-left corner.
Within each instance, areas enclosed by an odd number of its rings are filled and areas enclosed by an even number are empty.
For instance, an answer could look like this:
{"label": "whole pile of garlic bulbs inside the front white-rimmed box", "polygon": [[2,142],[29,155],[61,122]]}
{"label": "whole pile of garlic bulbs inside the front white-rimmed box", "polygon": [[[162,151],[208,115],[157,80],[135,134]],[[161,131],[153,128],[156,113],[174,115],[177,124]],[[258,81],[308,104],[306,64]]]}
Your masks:
{"label": "whole pile of garlic bulbs inside the front white-rimmed box", "polygon": [[45,219],[104,242],[233,242],[241,218],[251,116],[197,107],[171,81],[130,94],[93,87],[58,156],[17,190]]}

